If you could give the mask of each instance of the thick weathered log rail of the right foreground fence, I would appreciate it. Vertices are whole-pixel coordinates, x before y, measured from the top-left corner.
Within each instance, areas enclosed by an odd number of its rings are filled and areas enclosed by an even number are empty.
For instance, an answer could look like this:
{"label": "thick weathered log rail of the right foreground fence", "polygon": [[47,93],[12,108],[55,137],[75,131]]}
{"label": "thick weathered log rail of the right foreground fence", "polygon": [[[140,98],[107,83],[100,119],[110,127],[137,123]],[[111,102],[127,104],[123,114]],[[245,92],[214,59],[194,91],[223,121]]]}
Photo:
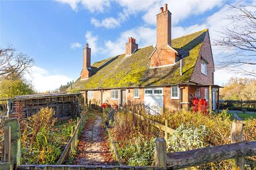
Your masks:
{"label": "thick weathered log rail of the right foreground fence", "polygon": [[254,155],[256,155],[256,141],[167,153],[166,161],[167,169],[181,169]]}

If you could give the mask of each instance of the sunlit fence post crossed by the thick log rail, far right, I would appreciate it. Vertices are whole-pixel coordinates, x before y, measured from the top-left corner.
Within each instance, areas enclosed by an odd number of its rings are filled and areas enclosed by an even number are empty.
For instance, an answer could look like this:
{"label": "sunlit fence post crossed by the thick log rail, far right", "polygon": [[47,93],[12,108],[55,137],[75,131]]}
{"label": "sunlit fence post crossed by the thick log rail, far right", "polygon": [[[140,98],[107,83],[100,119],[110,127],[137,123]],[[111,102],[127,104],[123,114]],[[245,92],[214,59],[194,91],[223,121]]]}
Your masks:
{"label": "sunlit fence post crossed by the thick log rail, far right", "polygon": [[[243,123],[232,122],[231,143],[243,142]],[[244,158],[234,159],[233,169],[244,170]]]}

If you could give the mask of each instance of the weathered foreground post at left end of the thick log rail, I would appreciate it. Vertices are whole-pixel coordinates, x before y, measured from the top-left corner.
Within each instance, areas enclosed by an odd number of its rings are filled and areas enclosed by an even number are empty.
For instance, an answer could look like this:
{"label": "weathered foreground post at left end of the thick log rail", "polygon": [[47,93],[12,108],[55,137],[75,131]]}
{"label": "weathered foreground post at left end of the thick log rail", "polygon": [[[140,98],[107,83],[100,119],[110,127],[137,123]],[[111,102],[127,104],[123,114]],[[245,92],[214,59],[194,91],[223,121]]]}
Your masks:
{"label": "weathered foreground post at left end of the thick log rail", "polygon": [[162,166],[164,169],[167,168],[166,162],[166,142],[163,138],[156,138],[156,166]]}

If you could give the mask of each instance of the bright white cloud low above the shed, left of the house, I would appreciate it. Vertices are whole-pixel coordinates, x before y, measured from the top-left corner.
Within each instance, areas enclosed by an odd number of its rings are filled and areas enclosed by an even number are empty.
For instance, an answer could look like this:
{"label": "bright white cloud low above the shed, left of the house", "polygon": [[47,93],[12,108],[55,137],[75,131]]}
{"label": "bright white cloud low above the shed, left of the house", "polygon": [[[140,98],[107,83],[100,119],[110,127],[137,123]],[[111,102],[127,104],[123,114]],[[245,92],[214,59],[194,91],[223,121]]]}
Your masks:
{"label": "bright white cloud low above the shed, left of the house", "polygon": [[72,80],[66,75],[51,74],[49,71],[38,66],[31,67],[30,73],[30,75],[26,75],[26,78],[33,82],[35,89],[39,92],[57,89]]}

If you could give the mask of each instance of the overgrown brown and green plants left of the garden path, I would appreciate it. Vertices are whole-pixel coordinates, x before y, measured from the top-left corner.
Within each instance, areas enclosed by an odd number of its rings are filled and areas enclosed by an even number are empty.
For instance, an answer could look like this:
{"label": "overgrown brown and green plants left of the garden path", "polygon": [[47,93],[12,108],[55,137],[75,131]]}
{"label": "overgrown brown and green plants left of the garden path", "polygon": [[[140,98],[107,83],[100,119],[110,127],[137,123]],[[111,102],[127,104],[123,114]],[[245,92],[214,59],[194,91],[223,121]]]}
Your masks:
{"label": "overgrown brown and green plants left of the garden path", "polygon": [[[58,122],[52,108],[42,108],[38,113],[21,120],[22,164],[54,164],[70,138],[71,126],[76,122]],[[18,117],[19,118],[19,117]]]}

